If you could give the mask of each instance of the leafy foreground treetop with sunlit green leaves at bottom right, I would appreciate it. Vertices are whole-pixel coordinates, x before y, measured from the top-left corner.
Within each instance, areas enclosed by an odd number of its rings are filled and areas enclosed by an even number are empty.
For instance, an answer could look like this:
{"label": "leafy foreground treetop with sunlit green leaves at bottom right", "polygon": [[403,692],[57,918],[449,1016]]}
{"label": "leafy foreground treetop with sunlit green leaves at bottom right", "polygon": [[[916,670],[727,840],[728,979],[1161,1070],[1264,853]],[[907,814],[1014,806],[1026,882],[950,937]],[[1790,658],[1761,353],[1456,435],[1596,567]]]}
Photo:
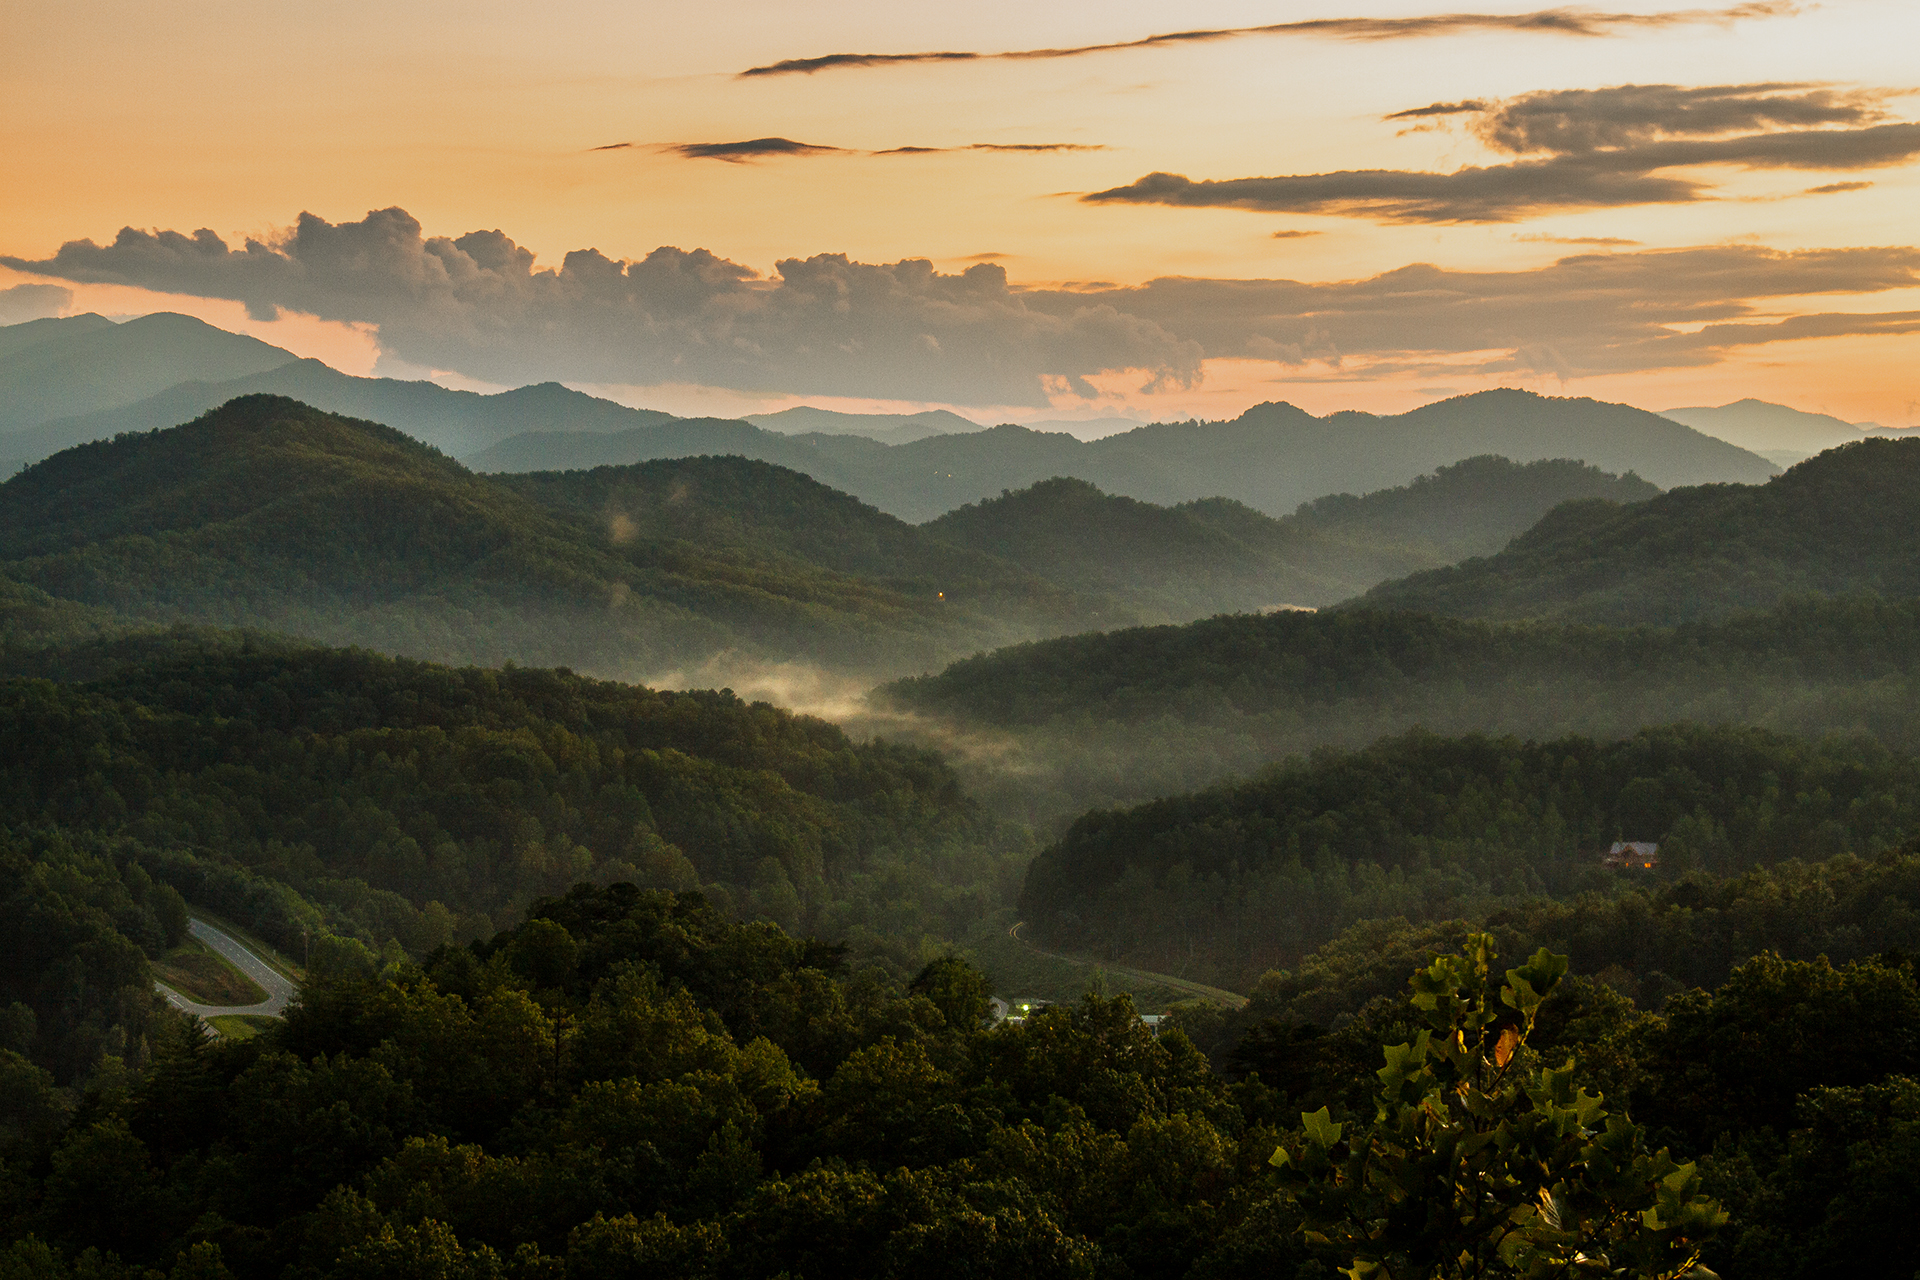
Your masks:
{"label": "leafy foreground treetop with sunlit green leaves at bottom right", "polygon": [[[1492,1000],[1494,940],[1415,971],[1427,1027],[1386,1048],[1375,1119],[1327,1107],[1273,1153],[1309,1244],[1352,1280],[1703,1274],[1726,1221],[1699,1173],[1607,1115],[1574,1067],[1542,1067],[1526,1038],[1567,973],[1546,948]],[[1503,1006],[1503,1007],[1501,1007]]]}

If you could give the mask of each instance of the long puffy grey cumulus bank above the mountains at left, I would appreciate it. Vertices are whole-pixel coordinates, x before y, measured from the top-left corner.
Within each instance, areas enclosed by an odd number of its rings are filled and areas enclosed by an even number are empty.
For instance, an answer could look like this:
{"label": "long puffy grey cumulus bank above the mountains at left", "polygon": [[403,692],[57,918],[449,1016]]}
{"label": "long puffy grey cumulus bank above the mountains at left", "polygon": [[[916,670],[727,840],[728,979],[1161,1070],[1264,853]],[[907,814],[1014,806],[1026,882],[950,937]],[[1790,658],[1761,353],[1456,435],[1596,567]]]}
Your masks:
{"label": "long puffy grey cumulus bank above the mountains at left", "polygon": [[280,238],[228,248],[125,228],[44,261],[0,259],[73,282],[230,297],[378,326],[382,351],[495,384],[538,380],[862,395],[954,405],[1046,405],[1044,386],[1092,393],[1091,374],[1146,370],[1190,386],[1200,347],[1100,299],[1033,307],[991,263],[787,259],[770,278],[705,249],[637,261],[576,249],[555,269],[499,230],[422,236],[403,209],[357,223],[311,213]]}

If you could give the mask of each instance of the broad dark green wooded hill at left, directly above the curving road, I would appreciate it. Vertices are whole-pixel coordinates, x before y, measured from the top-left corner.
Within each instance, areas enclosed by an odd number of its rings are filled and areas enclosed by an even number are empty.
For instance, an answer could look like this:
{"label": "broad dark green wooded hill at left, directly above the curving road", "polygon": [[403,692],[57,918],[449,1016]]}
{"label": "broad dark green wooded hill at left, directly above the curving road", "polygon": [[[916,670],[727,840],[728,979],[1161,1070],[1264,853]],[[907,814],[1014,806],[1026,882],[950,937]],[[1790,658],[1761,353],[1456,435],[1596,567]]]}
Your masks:
{"label": "broad dark green wooded hill at left, directly above the curving road", "polygon": [[[69,1079],[146,1002],[115,988],[111,946],[96,973],[54,960],[86,902],[156,881],[351,965],[488,936],[578,881],[701,889],[839,938],[954,936],[1029,852],[937,758],[724,691],[242,635],[154,652],[90,683],[0,681],[0,1013],[36,1009]],[[163,944],[111,910],[134,952]]]}

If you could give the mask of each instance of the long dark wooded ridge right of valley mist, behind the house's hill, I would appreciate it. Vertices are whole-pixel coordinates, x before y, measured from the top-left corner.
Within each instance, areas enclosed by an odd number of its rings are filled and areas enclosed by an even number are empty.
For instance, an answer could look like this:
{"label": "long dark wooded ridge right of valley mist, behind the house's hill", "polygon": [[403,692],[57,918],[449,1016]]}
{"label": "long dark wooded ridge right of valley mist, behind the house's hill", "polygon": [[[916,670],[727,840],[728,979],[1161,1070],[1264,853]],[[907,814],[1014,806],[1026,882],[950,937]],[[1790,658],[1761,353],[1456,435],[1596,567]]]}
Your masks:
{"label": "long dark wooded ridge right of valley mist, behind the house's hill", "polygon": [[1659,628],[1336,610],[1016,645],[887,685],[975,787],[1033,818],[1208,787],[1288,752],[1703,720],[1920,748],[1920,603],[1791,601]]}

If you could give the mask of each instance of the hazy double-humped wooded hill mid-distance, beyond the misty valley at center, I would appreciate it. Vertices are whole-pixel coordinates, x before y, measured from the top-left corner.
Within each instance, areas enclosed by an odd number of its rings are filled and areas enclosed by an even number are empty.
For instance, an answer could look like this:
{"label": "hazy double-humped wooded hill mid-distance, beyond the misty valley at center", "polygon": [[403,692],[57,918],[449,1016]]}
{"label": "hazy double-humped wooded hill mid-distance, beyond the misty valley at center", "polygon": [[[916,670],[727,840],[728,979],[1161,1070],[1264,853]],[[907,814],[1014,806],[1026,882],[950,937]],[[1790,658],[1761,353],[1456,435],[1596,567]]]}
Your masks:
{"label": "hazy double-humped wooded hill mid-distance, beyond the misty valley at center", "polygon": [[1187,622],[1275,604],[1331,604],[1415,566],[1498,551],[1572,497],[1640,501],[1638,476],[1569,461],[1478,457],[1411,486],[1323,497],[1275,520],[1233,499],[1156,507],[1085,480],[1046,480],[922,528],[1144,616]]}

